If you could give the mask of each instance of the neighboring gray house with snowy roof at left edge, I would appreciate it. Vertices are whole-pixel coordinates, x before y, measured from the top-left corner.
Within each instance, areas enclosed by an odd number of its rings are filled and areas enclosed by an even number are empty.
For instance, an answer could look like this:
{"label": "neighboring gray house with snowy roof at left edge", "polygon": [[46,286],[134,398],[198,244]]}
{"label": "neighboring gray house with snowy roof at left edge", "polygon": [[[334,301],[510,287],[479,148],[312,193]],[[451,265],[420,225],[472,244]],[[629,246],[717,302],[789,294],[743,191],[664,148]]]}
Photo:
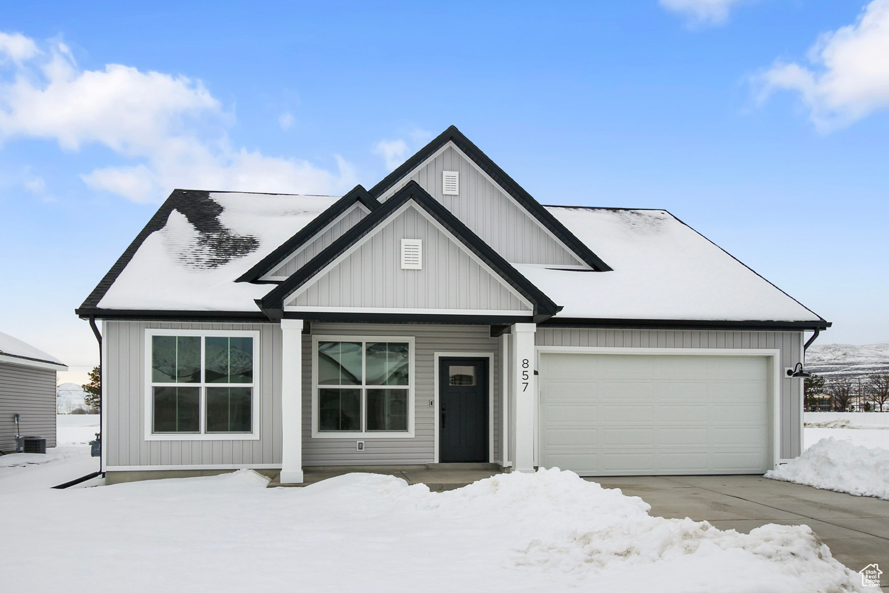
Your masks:
{"label": "neighboring gray house with snowy roof at left edge", "polygon": [[0,332],[0,451],[15,451],[15,414],[22,437],[55,446],[56,372],[67,370],[58,358]]}

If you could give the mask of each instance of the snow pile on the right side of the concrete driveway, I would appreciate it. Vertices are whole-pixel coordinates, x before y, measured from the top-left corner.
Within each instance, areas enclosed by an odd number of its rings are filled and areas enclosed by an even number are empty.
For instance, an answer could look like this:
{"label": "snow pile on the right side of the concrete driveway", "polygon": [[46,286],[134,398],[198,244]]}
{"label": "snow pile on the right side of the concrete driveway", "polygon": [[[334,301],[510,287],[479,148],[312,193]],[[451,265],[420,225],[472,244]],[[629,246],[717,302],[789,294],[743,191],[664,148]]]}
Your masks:
{"label": "snow pile on the right side of the concrete driveway", "polygon": [[822,438],[765,477],[889,501],[889,450]]}

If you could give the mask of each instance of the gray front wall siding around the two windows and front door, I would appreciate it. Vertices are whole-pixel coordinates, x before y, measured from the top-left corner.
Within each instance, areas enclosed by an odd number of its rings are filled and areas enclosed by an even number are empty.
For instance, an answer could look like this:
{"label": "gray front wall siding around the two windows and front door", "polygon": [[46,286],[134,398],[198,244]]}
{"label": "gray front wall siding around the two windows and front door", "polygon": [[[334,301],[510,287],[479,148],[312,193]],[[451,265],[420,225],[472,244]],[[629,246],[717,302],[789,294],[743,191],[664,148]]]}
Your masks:
{"label": "gray front wall siding around the two windows and front door", "polygon": [[[145,330],[254,330],[260,332],[256,355],[255,393],[260,397],[259,440],[145,439]],[[366,449],[356,452],[356,439],[311,437],[312,339],[303,339],[303,465],[417,464],[435,461],[434,353],[492,354],[494,383],[494,459],[498,458],[497,401],[500,360],[496,338],[487,325],[372,325],[313,323],[316,335],[413,336],[415,338],[415,437],[363,437]],[[107,357],[105,413],[107,467],[139,469],[163,466],[280,466],[281,463],[281,327],[277,324],[105,321]],[[54,382],[53,382],[54,389]],[[53,391],[54,394],[54,391]],[[54,413],[54,399],[52,412]],[[54,418],[54,416],[53,416]]]}

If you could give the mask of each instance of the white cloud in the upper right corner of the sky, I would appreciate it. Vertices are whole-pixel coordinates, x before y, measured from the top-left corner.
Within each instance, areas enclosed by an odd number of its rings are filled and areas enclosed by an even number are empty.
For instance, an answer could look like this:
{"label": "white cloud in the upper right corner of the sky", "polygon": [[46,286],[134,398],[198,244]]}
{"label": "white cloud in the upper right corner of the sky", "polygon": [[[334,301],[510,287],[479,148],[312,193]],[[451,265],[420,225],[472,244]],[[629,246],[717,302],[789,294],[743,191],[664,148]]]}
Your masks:
{"label": "white cloud in the upper right corner of the sky", "polygon": [[853,25],[820,36],[808,59],[812,68],[775,62],[757,77],[759,99],[799,92],[823,132],[889,107],[889,0],[873,0]]}

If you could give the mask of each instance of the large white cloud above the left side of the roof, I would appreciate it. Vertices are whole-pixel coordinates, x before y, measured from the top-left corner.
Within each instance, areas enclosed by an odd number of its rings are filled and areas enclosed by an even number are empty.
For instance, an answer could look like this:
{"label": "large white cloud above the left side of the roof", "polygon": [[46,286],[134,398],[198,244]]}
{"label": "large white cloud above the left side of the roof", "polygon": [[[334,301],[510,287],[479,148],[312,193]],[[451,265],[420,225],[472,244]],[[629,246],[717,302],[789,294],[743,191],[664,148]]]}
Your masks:
{"label": "large white cloud above the left side of the roof", "polygon": [[356,182],[340,156],[338,171],[328,172],[233,148],[233,117],[200,81],[120,64],[82,70],[63,44],[40,54],[36,44],[28,53],[16,43],[16,55],[27,57],[0,82],[0,141],[52,139],[68,151],[96,143],[132,161],[85,173],[91,188],[149,202],[172,188],[329,194]]}

